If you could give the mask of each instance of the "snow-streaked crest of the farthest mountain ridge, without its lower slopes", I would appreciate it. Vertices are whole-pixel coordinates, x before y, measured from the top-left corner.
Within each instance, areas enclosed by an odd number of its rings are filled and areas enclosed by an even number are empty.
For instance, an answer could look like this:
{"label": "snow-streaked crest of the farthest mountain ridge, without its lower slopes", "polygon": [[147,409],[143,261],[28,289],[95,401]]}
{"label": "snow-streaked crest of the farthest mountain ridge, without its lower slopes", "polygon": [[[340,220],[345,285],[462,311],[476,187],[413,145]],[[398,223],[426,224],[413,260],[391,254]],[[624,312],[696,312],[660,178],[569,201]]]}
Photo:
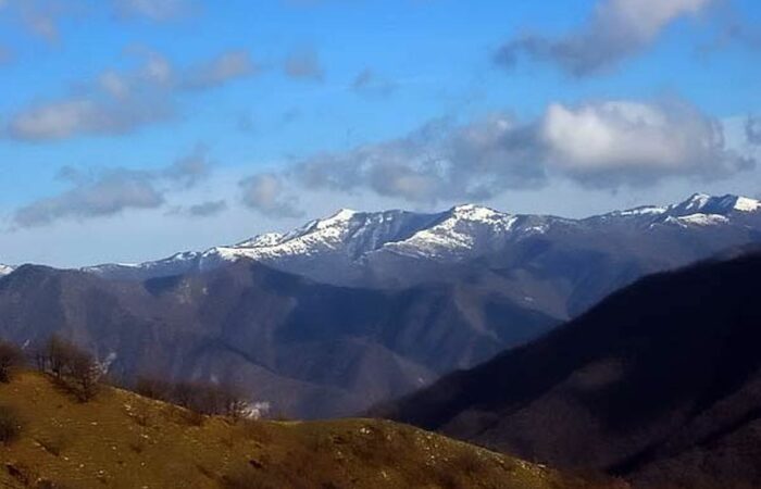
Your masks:
{"label": "snow-streaked crest of the farthest mountain ridge, without its lower slopes", "polygon": [[[121,271],[126,276],[144,271],[145,275],[154,276],[185,273],[194,267],[209,269],[220,262],[250,259],[287,272],[309,269],[321,278],[361,275],[362,263],[389,254],[456,263],[498,251],[510,241],[556,231],[563,234],[574,228],[595,229],[608,225],[646,230],[664,225],[706,227],[725,225],[735,215],[743,217],[758,211],[761,211],[761,202],[754,199],[704,193],[668,206],[639,206],[585,220],[514,215],[475,204],[457,205],[433,214],[342,209],[287,234],[263,234],[238,244],[216,247],[202,253],[179,253],[141,265],[102,265],[88,271],[101,275],[118,275]],[[316,268],[321,272],[313,272]]]}

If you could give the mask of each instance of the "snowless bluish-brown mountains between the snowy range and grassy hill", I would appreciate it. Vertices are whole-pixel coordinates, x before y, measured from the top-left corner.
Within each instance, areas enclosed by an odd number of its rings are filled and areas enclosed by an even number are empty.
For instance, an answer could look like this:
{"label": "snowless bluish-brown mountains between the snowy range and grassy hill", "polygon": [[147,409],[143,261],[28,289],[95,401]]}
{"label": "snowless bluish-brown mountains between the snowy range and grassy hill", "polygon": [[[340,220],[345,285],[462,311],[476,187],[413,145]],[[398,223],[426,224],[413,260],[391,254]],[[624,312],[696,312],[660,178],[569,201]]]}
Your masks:
{"label": "snowless bluish-brown mountains between the snowy range and grassy hill", "polygon": [[554,324],[476,287],[348,289],[250,261],[147,281],[40,266],[0,279],[0,337],[58,333],[127,381],[230,379],[299,417],[360,412]]}

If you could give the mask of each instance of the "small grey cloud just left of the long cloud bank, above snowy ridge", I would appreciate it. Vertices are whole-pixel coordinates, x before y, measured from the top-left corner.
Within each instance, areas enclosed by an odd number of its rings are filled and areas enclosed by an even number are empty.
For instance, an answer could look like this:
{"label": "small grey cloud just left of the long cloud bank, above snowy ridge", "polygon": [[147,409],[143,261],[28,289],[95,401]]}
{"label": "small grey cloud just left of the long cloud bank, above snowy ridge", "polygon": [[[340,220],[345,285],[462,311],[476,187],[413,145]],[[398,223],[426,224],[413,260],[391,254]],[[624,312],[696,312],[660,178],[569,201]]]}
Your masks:
{"label": "small grey cloud just left of the long cloud bank, above snowy ridge", "polygon": [[300,217],[297,199],[288,195],[283,178],[264,173],[245,178],[239,183],[246,206],[275,217]]}

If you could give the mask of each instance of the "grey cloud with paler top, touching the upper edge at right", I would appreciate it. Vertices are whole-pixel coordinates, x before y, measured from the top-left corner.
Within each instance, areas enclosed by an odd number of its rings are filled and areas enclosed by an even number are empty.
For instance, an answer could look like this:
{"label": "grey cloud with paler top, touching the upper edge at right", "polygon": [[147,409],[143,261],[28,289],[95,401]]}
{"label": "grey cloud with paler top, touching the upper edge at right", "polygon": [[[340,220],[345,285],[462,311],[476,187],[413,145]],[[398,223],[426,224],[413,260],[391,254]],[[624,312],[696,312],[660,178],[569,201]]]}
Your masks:
{"label": "grey cloud with paler top, touching the upper edge at right", "polygon": [[582,28],[561,37],[527,35],[506,43],[496,61],[512,66],[521,54],[585,76],[615,66],[650,47],[676,20],[716,0],[600,0]]}

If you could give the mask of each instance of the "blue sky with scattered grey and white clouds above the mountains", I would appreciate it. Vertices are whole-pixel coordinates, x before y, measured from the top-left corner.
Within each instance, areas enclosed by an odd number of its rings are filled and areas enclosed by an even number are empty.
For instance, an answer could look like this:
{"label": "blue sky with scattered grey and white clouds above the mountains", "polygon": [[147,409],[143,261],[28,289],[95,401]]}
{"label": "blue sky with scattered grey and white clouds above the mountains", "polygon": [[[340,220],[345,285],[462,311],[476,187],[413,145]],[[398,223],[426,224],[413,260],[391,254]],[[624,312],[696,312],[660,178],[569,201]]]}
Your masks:
{"label": "blue sky with scattered grey and white clouds above the mountains", "polygon": [[761,197],[757,0],[0,0],[0,263]]}

